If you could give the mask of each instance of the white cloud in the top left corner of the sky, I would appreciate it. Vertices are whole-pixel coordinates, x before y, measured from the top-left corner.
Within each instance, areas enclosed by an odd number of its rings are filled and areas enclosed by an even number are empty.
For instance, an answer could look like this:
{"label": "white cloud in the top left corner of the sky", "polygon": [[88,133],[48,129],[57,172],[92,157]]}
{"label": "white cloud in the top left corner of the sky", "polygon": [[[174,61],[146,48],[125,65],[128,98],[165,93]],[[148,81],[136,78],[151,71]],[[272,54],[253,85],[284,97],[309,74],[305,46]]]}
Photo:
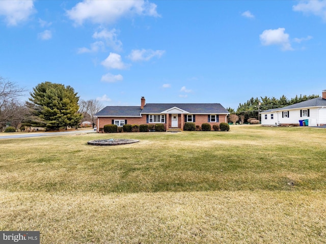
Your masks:
{"label": "white cloud in the top left corner of the sky", "polygon": [[0,1],[0,16],[6,17],[8,25],[17,25],[20,22],[26,21],[35,12],[33,0]]}

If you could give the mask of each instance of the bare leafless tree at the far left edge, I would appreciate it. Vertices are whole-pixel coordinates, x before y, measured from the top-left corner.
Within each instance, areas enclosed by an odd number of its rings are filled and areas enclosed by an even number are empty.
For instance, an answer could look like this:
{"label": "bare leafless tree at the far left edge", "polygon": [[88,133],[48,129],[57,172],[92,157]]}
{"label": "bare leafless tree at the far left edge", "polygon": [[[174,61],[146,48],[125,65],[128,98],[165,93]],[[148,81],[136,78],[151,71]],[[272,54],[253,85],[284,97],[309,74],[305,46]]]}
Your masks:
{"label": "bare leafless tree at the far left edge", "polygon": [[20,113],[15,109],[20,109],[18,97],[23,92],[25,92],[24,88],[20,88],[14,82],[0,76],[0,126],[7,123],[11,124],[14,120],[14,114]]}

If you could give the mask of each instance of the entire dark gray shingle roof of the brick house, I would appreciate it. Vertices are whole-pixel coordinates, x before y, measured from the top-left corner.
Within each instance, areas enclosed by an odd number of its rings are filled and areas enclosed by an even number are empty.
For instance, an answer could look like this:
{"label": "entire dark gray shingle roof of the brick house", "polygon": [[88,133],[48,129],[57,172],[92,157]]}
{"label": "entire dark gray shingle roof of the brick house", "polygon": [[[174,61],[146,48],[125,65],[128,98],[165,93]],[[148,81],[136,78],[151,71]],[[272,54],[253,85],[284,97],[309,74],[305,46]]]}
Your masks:
{"label": "entire dark gray shingle roof of the brick house", "polygon": [[220,103],[148,103],[142,110],[140,106],[107,106],[95,116],[141,116],[141,113],[161,113],[171,108],[180,108],[191,114],[228,114]]}

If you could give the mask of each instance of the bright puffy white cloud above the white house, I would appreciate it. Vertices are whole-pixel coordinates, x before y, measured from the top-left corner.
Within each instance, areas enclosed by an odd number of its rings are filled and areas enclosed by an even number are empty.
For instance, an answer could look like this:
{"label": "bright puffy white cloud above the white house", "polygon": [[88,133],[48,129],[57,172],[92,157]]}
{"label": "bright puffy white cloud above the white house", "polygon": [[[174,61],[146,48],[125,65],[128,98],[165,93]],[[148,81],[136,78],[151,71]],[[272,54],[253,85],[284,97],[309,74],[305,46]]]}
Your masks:
{"label": "bright puffy white cloud above the white house", "polygon": [[289,34],[284,33],[285,28],[266,29],[259,35],[264,46],[279,45],[283,51],[293,50],[289,41]]}

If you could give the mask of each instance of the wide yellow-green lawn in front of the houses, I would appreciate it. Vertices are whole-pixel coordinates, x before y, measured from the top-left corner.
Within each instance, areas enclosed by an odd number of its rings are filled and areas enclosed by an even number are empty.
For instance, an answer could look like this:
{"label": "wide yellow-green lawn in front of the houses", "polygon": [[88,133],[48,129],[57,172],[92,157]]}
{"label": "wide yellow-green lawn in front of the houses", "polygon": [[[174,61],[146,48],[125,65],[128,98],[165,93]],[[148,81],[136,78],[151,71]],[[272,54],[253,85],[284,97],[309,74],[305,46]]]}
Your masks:
{"label": "wide yellow-green lawn in front of the houses", "polygon": [[[90,146],[94,139],[140,142]],[[0,230],[41,243],[325,243],[326,129],[0,140]]]}

